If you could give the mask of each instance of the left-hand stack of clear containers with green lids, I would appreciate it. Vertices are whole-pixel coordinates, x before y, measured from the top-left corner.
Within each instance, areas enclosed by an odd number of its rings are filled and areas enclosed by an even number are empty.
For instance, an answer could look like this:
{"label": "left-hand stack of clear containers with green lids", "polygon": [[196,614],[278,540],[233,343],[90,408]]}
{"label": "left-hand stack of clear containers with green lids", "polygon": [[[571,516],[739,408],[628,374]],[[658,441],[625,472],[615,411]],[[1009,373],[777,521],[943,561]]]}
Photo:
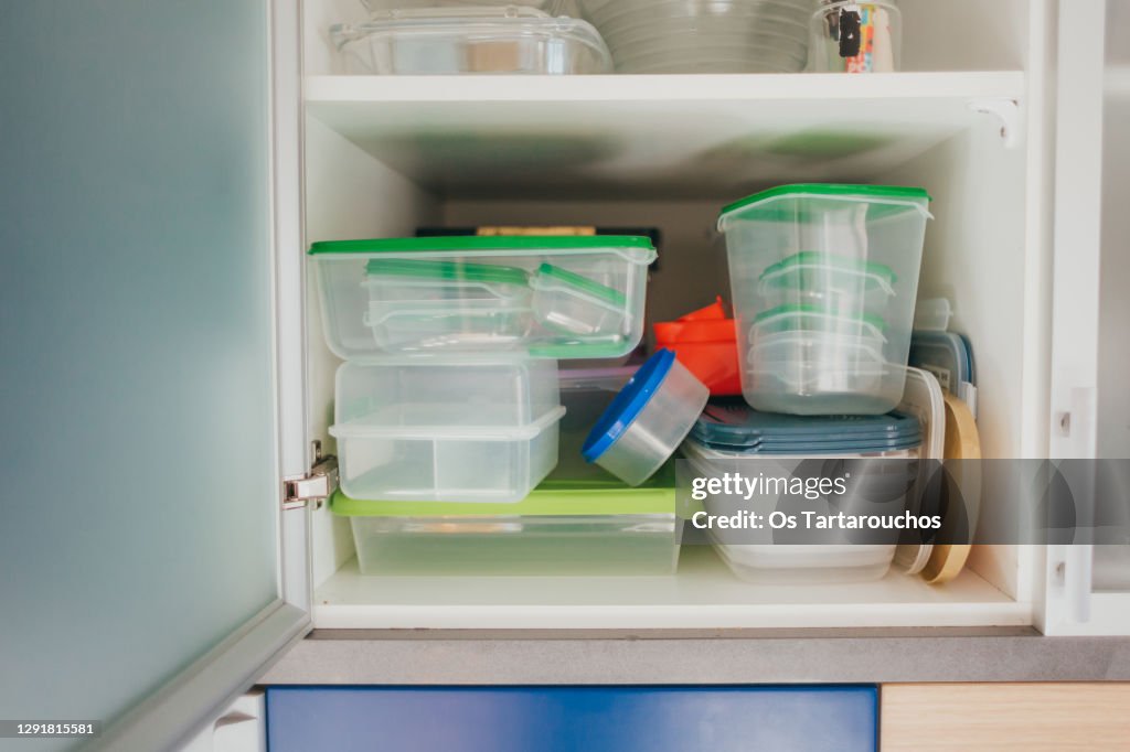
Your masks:
{"label": "left-hand stack of clear containers with green lids", "polygon": [[[450,540],[464,554],[530,553],[548,537],[564,566],[585,560],[583,541],[618,535],[643,541],[627,569],[671,568],[673,481],[633,490],[572,457],[591,423],[566,431],[570,462],[534,492],[560,456],[557,361],[621,358],[638,344],[650,239],[344,241],[315,243],[310,256],[327,342],[346,360],[330,428],[341,479],[332,505],[351,521],[362,571],[410,569],[389,566],[408,541],[420,552]],[[566,390],[582,413],[599,416],[629,378],[598,373],[588,402]],[[425,572],[432,559],[415,560]]]}

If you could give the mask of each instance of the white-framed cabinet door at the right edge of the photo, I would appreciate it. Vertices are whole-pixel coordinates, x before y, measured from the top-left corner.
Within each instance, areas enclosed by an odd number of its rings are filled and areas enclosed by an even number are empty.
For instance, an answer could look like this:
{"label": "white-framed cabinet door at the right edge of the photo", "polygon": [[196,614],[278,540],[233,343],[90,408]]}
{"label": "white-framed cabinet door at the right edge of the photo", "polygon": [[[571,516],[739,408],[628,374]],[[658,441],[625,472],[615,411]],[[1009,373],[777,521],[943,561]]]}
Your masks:
{"label": "white-framed cabinet door at the right edge of the photo", "polygon": [[[1049,455],[1053,460],[1127,456],[1104,451],[1099,441],[1104,422],[1112,418],[1123,427],[1128,422],[1124,408],[1121,418],[1115,414],[1120,408],[1110,397],[1118,395],[1110,391],[1103,395],[1099,390],[1101,364],[1118,355],[1112,348],[1124,353],[1128,347],[1125,322],[1104,321],[1103,314],[1110,303],[1124,299],[1124,283],[1130,282],[1130,272],[1121,272],[1125,282],[1110,283],[1116,269],[1109,262],[1125,252],[1127,236],[1118,237],[1127,229],[1124,219],[1120,220],[1125,216],[1124,193],[1104,195],[1116,185],[1130,155],[1124,116],[1111,117],[1115,110],[1109,86],[1120,68],[1111,62],[1130,59],[1127,6],[1124,0],[1060,2]],[[1112,300],[1112,295],[1118,298]],[[1118,333],[1103,336],[1104,331]],[[1124,373],[1118,374],[1113,386],[1124,391]],[[1092,480],[1089,491],[1101,493],[1102,483],[1096,476]],[[1088,506],[1094,508],[1084,500],[1080,509]],[[1089,522],[1080,518],[1079,524]],[[1121,548],[1127,546],[1048,546],[1040,614],[1045,633],[1130,633],[1130,584],[1119,591],[1109,583],[1109,575],[1116,579],[1123,562],[1130,561]]]}

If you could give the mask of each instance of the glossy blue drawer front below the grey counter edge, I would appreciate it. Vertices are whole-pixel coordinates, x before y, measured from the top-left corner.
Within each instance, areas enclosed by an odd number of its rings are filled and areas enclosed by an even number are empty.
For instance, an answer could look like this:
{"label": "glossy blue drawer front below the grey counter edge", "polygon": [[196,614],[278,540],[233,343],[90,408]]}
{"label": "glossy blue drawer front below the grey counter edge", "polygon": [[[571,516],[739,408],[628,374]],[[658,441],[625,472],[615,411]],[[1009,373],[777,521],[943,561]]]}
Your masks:
{"label": "glossy blue drawer front below the grey counter edge", "polygon": [[875,687],[270,688],[270,752],[873,752]]}

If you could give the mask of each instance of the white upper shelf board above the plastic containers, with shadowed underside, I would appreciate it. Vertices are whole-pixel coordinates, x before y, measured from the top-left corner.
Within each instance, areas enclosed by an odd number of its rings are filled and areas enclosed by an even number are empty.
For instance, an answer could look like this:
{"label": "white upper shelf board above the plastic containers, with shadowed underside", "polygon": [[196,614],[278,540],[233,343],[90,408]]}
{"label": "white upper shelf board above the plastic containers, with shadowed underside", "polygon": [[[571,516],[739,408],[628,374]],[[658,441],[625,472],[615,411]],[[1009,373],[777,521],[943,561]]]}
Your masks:
{"label": "white upper shelf board above the plastic containers, with shadowed underside", "polygon": [[1020,100],[1020,71],[315,76],[310,116],[447,198],[733,198],[870,181]]}

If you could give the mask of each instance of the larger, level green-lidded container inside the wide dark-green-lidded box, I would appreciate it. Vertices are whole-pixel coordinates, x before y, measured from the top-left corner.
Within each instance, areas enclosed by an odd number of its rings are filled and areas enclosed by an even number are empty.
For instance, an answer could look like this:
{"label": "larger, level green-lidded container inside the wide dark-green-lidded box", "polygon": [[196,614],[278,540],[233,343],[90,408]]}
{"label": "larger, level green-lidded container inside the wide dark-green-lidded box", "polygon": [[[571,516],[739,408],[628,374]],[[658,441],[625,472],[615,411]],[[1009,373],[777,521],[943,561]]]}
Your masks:
{"label": "larger, level green-lidded container inside the wide dark-green-lidded box", "polygon": [[530,278],[502,264],[374,259],[364,323],[382,350],[515,344],[532,325]]}

